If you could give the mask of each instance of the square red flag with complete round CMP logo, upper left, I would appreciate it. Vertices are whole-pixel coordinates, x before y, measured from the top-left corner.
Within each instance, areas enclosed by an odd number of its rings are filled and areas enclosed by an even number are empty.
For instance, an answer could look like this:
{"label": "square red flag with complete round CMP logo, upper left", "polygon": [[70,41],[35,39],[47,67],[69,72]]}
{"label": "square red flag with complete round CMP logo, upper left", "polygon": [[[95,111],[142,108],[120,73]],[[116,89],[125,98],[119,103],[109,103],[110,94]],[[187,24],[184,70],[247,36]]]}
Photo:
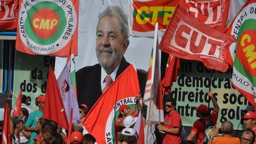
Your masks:
{"label": "square red flag with complete round CMP logo, upper left", "polygon": [[20,1],[16,50],[68,56],[78,45],[78,5],[78,0]]}

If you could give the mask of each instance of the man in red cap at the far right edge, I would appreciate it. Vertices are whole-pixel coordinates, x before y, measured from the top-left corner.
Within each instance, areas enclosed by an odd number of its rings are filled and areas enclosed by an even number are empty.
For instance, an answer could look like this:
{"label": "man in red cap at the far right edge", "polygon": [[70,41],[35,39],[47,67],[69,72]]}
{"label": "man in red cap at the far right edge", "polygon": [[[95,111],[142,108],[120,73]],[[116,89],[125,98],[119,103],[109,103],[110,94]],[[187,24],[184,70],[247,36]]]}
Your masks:
{"label": "man in red cap at the far right edge", "polygon": [[254,111],[248,111],[242,119],[244,119],[245,128],[256,133],[256,113]]}

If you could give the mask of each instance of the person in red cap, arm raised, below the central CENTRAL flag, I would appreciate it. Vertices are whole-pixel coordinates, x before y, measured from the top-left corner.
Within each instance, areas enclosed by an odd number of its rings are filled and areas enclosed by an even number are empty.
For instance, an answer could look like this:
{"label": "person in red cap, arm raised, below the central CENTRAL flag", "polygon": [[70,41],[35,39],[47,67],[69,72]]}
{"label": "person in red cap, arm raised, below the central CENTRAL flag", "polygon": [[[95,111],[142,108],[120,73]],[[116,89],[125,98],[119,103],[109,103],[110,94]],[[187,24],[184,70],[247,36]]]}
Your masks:
{"label": "person in red cap, arm raised, below the central CENTRAL flag", "polygon": [[[138,105],[138,111],[142,111],[142,105],[140,104],[140,98],[141,95],[137,95],[137,105]],[[114,121],[114,133],[115,133],[115,140],[116,143],[118,142],[118,134],[125,128],[123,124],[123,120],[128,117],[136,117],[136,108],[137,106],[133,106],[131,109],[129,105],[123,104],[119,107],[119,118]]]}

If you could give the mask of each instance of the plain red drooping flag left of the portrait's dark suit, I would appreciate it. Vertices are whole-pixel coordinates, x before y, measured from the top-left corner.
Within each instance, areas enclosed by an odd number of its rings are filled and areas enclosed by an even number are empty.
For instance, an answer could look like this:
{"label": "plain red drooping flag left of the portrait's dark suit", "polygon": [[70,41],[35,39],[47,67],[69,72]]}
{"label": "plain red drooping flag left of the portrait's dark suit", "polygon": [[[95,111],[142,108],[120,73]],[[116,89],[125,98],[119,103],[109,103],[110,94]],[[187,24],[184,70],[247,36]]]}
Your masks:
{"label": "plain red drooping flag left of the portrait's dark suit", "polygon": [[44,101],[43,118],[56,121],[61,127],[68,129],[68,118],[60,95],[59,86],[52,67],[47,79],[46,98]]}

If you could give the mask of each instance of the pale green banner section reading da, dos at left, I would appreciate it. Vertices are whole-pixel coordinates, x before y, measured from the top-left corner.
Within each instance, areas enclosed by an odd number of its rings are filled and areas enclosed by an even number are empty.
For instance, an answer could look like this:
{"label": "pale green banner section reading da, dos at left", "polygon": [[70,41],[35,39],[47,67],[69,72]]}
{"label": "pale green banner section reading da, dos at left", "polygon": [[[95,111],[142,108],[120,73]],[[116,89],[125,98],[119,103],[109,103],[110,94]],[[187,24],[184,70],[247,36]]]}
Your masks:
{"label": "pale green banner section reading da, dos at left", "polygon": [[12,107],[14,107],[21,89],[23,94],[28,97],[28,105],[36,110],[36,97],[46,92],[49,65],[53,63],[54,58],[33,56],[16,51],[14,59]]}

